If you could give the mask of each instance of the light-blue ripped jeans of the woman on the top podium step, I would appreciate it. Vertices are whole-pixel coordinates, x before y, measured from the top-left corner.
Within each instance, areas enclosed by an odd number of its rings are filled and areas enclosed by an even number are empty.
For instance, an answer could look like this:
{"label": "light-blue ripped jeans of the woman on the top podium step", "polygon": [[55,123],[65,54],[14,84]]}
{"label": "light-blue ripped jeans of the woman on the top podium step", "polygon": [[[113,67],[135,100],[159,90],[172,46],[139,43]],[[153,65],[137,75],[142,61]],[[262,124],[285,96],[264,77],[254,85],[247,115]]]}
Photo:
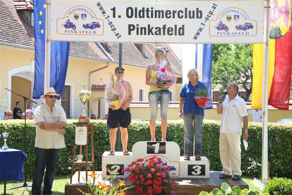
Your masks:
{"label": "light-blue ripped jeans of the woman on the top podium step", "polygon": [[148,101],[150,107],[150,120],[156,120],[158,102],[160,102],[160,118],[167,120],[167,110],[170,100],[170,92],[168,89],[149,92]]}

